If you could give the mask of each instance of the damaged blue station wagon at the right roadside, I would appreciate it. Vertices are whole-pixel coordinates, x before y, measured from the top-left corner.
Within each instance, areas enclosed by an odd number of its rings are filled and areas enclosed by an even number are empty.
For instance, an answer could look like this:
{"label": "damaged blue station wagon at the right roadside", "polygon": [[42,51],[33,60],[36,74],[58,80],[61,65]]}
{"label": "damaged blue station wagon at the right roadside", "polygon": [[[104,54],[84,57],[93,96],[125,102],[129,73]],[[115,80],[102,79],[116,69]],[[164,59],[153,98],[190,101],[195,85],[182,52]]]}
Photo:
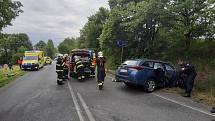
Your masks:
{"label": "damaged blue station wagon at the right roadside", "polygon": [[168,62],[137,59],[127,60],[116,70],[116,80],[126,85],[140,85],[145,91],[153,92],[177,80],[175,67]]}

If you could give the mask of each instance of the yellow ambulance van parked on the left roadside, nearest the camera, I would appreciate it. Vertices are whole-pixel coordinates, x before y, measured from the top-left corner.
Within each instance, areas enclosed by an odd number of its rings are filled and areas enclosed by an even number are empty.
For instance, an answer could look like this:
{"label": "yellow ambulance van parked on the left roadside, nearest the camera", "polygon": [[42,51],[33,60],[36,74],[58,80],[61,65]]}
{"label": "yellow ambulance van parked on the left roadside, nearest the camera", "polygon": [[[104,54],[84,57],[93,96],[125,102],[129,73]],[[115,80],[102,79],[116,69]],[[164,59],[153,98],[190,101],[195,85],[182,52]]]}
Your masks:
{"label": "yellow ambulance van parked on the left roadside, nearest the camera", "polygon": [[22,69],[39,70],[45,64],[43,51],[25,51]]}

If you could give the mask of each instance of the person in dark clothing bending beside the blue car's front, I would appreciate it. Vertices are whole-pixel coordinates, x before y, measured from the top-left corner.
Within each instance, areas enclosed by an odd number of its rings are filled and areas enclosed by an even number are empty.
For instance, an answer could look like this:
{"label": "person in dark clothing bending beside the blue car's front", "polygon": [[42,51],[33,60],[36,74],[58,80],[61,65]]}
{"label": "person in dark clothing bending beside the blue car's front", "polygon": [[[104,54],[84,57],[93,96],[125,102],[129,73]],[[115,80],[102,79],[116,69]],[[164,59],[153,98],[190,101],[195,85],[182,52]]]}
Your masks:
{"label": "person in dark clothing bending beside the blue car's front", "polygon": [[186,75],[186,78],[184,78],[184,97],[191,97],[191,92],[193,90],[194,81],[197,75],[195,67],[190,62],[182,62],[180,66],[182,68],[181,74]]}

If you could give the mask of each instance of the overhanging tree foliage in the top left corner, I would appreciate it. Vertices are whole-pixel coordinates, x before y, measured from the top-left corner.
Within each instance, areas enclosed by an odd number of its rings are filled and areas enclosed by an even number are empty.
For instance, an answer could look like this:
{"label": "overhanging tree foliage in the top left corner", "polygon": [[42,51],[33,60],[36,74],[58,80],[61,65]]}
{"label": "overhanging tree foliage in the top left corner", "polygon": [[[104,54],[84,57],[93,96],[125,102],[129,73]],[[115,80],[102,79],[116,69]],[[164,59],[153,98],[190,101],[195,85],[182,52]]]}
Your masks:
{"label": "overhanging tree foliage in the top left corner", "polygon": [[12,0],[0,0],[0,31],[7,25],[11,25],[11,21],[19,16],[22,3]]}

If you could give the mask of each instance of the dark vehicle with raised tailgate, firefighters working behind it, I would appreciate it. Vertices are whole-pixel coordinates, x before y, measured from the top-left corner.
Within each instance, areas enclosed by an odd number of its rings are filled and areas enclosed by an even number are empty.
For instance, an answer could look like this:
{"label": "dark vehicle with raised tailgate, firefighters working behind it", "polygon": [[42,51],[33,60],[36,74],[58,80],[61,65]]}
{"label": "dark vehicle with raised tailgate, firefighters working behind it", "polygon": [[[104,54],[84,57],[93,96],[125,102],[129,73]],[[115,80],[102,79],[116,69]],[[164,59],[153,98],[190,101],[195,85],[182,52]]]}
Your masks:
{"label": "dark vehicle with raised tailgate, firefighters working behind it", "polygon": [[74,56],[78,56],[83,65],[85,76],[95,75],[95,64],[93,64],[93,55],[95,52],[93,50],[87,49],[75,49],[70,53],[70,76],[76,77],[77,73],[75,71],[75,59]]}

